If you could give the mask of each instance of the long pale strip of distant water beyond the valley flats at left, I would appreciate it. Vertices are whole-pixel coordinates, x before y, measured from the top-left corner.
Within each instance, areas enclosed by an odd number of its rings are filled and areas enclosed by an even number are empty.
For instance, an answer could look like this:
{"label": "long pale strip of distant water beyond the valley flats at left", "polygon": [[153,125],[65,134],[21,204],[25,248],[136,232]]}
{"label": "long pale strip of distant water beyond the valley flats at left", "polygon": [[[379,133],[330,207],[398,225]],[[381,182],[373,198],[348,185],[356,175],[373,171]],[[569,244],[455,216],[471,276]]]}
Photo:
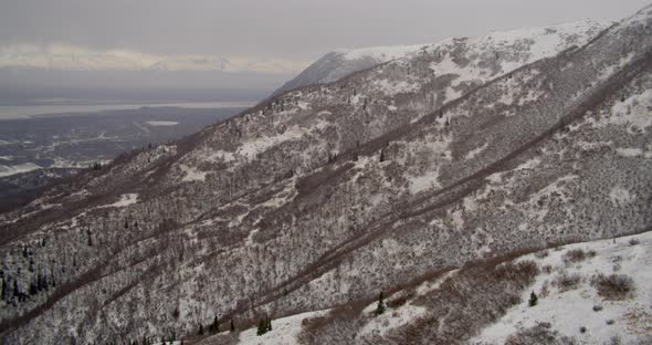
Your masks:
{"label": "long pale strip of distant water beyond the valley flats at left", "polygon": [[39,105],[0,105],[0,119],[54,116],[54,114],[91,114],[103,111],[138,109],[141,107],[180,107],[180,108],[227,108],[250,107],[255,102],[194,102],[194,103],[104,103],[104,104],[52,104]]}

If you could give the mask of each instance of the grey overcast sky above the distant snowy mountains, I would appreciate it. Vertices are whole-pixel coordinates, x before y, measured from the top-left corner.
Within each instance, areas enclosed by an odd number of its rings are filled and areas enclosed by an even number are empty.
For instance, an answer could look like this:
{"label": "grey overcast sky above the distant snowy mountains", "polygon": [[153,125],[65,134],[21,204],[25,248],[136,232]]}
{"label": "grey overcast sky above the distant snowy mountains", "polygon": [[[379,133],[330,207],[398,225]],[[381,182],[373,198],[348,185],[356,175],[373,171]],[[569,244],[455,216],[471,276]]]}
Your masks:
{"label": "grey overcast sky above the distant snowy mountains", "polygon": [[337,48],[428,43],[582,19],[618,20],[650,1],[0,0],[0,53],[56,46],[128,52],[145,60],[217,56],[240,65],[266,61],[274,67],[261,69],[293,72]]}

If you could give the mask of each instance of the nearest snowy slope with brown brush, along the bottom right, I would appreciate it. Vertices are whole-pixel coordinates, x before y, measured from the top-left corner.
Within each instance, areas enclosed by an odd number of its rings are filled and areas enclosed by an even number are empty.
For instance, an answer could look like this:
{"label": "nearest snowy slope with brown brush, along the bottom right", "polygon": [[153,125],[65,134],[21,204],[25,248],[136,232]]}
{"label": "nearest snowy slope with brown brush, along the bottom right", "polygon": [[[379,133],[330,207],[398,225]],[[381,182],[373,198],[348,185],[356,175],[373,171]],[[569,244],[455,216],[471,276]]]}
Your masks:
{"label": "nearest snowy slope with brown brush, along the bottom right", "polygon": [[[508,281],[525,273],[532,276],[526,284],[508,284],[514,291],[497,291],[496,295],[487,296],[495,301],[477,305],[480,321],[469,323],[472,327],[456,330],[455,343],[649,344],[652,341],[652,305],[649,303],[652,272],[648,269],[651,263],[652,232],[560,245],[482,263],[482,268],[493,274],[509,272]],[[518,270],[519,265],[534,273]],[[448,296],[451,286],[475,282],[466,272],[474,269],[449,271],[393,292],[385,300],[388,306],[381,315],[375,314],[377,302],[369,303],[357,314],[343,314],[341,309],[307,312],[274,320],[274,330],[262,336],[256,336],[251,328],[239,336],[217,335],[201,344],[228,344],[225,337],[241,345],[305,344],[302,342],[324,335],[319,327],[333,327],[326,333],[329,338],[323,338],[319,344],[337,344],[334,341],[343,338],[354,338],[351,343],[355,344],[406,344],[401,339],[409,338],[411,332],[439,332],[428,321],[433,316],[438,318],[438,309],[448,310],[461,301],[432,302]],[[612,284],[612,281],[618,283]],[[481,282],[476,288],[482,290],[492,284]],[[534,306],[529,302],[532,292],[537,295]],[[502,306],[495,304],[501,299],[508,300],[506,305],[512,306],[501,311]],[[485,307],[488,309],[482,310]],[[487,322],[484,313],[504,315]],[[348,327],[333,326],[339,322],[347,323]],[[439,327],[445,322],[454,320],[444,318]],[[319,324],[318,327],[315,324]]]}

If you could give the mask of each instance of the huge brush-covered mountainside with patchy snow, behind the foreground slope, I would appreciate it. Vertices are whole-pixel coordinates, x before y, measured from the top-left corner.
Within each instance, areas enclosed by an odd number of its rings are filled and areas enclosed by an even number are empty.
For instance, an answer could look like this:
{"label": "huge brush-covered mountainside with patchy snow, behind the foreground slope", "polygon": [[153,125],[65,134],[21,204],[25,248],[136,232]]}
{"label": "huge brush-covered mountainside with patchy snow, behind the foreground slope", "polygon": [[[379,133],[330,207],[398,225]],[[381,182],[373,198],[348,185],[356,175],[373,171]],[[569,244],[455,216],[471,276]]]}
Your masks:
{"label": "huge brush-covered mountainside with patchy snow, behind the foreground slope", "polygon": [[[449,40],[294,90],[0,215],[3,342],[244,328],[649,229],[652,8],[570,27]],[[470,284],[497,274],[486,291],[513,292],[484,323],[536,278],[475,268]],[[438,299],[484,299],[465,286]],[[471,326],[454,317],[412,342],[448,344]],[[318,330],[305,342],[350,342]]]}

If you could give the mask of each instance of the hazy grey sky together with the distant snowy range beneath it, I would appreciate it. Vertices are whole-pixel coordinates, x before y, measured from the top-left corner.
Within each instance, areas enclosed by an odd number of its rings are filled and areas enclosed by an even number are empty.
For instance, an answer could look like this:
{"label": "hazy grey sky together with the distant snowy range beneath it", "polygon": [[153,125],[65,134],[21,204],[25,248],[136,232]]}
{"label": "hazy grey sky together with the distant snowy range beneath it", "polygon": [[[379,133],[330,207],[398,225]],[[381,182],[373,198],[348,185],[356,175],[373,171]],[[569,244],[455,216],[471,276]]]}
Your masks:
{"label": "hazy grey sky together with the distant snowy range beneath it", "polygon": [[261,100],[334,49],[616,21],[648,2],[3,0],[0,101],[65,98],[74,90],[164,102]]}

